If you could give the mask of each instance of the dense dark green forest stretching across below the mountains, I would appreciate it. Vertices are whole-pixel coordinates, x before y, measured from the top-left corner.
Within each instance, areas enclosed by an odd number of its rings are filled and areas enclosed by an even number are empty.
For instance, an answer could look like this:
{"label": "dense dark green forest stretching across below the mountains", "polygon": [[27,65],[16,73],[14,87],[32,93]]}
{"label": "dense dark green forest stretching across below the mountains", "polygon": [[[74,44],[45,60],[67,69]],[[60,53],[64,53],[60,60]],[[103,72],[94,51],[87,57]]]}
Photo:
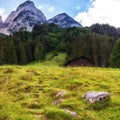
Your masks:
{"label": "dense dark green forest stretching across below the mountains", "polygon": [[32,32],[21,28],[9,36],[0,34],[0,65],[24,65],[44,61],[48,53],[51,57],[66,53],[65,63],[84,56],[97,67],[119,67],[119,37],[120,30],[108,24],[67,29],[42,24],[35,25]]}

